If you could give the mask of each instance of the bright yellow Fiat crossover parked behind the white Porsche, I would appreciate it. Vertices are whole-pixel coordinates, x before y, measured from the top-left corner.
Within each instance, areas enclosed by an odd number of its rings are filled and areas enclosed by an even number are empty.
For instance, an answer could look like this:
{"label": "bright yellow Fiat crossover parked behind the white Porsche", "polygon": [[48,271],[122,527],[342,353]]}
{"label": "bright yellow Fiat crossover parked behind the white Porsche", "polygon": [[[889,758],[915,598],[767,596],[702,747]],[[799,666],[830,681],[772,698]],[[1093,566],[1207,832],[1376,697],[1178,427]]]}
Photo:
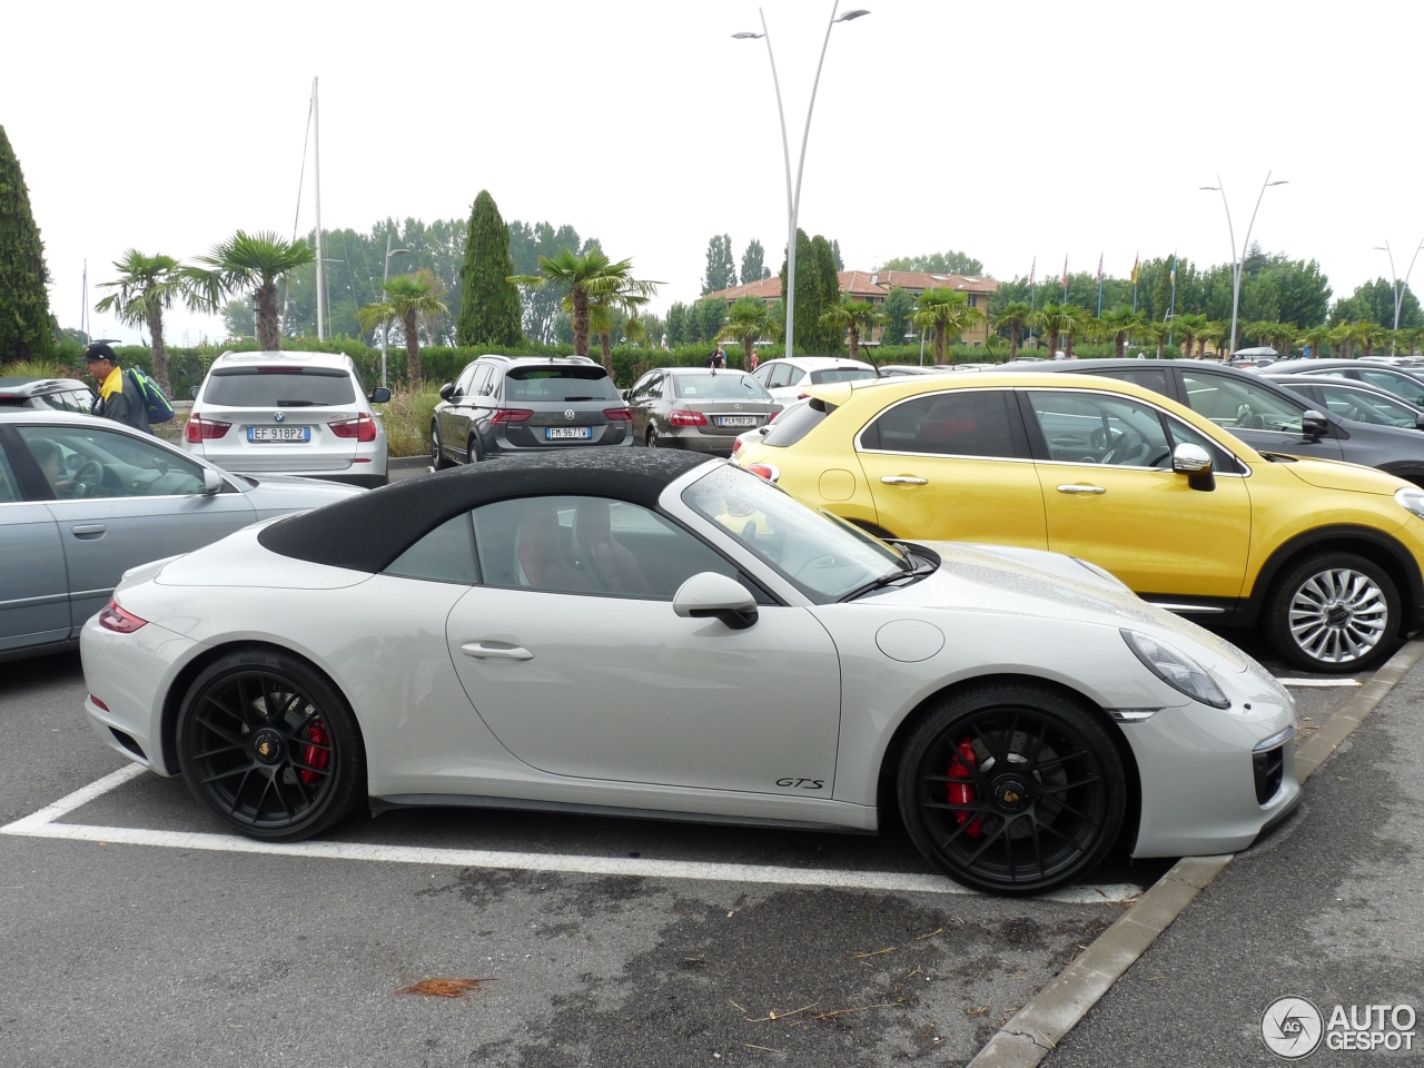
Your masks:
{"label": "bright yellow Fiat crossover parked behind the white Porsche", "polygon": [[1262,454],[1092,376],[807,392],[738,463],[881,537],[1065,553],[1314,671],[1377,664],[1424,611],[1424,491],[1381,471]]}

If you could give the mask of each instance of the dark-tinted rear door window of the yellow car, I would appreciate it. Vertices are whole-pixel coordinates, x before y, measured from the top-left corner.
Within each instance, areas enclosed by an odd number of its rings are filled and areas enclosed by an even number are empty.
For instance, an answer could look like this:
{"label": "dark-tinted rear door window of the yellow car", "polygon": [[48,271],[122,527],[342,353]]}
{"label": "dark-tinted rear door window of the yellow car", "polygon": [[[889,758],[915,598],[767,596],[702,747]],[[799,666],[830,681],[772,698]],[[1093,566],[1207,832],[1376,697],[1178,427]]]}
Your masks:
{"label": "dark-tinted rear door window of the yellow car", "polygon": [[894,453],[1012,457],[1007,390],[960,390],[896,404],[862,439]]}

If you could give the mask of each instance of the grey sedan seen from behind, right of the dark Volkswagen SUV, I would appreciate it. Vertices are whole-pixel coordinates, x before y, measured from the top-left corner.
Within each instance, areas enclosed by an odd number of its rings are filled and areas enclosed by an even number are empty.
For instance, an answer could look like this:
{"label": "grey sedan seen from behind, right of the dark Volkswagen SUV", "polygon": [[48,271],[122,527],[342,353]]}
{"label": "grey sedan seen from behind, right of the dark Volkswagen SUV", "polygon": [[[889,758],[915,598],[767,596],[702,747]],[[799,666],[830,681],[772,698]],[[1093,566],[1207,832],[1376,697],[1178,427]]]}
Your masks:
{"label": "grey sedan seen from behind, right of the dark Volkswagen SUV", "polygon": [[659,367],[628,390],[634,444],[731,456],[738,434],[766,426],[782,406],[739,370]]}

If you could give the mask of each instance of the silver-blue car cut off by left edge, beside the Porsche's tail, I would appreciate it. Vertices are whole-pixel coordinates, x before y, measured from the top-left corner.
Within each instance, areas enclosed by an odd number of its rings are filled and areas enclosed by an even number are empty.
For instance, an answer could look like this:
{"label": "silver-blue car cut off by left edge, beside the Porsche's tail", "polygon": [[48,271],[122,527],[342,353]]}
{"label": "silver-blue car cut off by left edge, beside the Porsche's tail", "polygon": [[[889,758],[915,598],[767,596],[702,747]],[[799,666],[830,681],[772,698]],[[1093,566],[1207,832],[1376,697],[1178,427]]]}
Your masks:
{"label": "silver-blue car cut off by left edge, beside the Porsche's tail", "polygon": [[0,661],[73,648],[131,567],[359,493],[232,476],[93,416],[0,409]]}

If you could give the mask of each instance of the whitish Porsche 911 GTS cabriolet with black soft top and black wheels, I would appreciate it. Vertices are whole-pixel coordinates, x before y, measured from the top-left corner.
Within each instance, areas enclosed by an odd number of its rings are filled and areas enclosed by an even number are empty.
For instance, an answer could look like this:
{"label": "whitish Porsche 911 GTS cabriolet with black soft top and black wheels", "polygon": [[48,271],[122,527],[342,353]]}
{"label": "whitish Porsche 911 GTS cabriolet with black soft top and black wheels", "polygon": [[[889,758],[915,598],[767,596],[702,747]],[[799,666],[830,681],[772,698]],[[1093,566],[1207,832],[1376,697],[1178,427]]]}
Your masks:
{"label": "whitish Porsche 911 GTS cabriolet with black soft top and black wheels", "polygon": [[1294,708],[1105,571],[886,544],[722,460],[496,460],[130,571],[100,738],[262,839],[463,805],[874,832],[995,893],[1237,850]]}

